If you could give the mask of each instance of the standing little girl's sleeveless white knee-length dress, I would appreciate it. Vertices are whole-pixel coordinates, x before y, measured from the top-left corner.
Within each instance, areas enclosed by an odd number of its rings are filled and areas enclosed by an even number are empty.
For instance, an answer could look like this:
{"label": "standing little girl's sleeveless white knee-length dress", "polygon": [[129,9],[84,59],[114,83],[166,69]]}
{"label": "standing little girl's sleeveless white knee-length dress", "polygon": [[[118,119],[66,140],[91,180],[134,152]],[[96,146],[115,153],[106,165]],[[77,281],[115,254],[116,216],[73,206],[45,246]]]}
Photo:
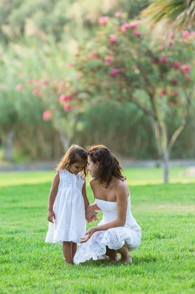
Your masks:
{"label": "standing little girl's sleeveless white knee-length dress", "polygon": [[84,179],[67,170],[59,172],[59,185],[54,202],[56,220],[49,222],[45,242],[63,244],[63,241],[78,243],[86,232],[84,198],[82,188]]}

